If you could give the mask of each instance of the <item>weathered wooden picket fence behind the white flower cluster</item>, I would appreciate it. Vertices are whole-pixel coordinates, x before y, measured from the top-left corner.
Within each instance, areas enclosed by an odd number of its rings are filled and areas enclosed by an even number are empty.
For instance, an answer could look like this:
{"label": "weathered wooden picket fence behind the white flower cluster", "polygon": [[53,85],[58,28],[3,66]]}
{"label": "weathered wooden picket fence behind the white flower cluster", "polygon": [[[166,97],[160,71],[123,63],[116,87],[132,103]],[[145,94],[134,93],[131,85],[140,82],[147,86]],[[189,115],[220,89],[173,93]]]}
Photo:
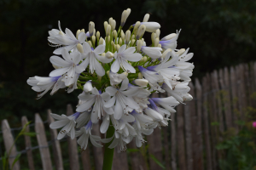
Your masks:
{"label": "weathered wooden picket fence behind the white flower cluster", "polygon": [[[216,144],[222,141],[227,130],[238,132],[240,127],[236,122],[245,119],[248,107],[256,106],[253,100],[253,94],[256,94],[256,63],[207,73],[201,82],[195,79],[195,83],[189,83],[189,87],[189,94],[194,99],[186,105],[177,106],[177,114],[172,114],[169,127],[156,128],[154,133],[147,137],[148,143],[140,149],[137,149],[134,141],[128,144],[127,152],[120,153],[116,148],[113,170],[156,170],[163,168],[160,163],[166,169],[172,170],[219,169],[218,159],[221,155],[215,148]],[[166,94],[161,95],[164,97]],[[32,150],[39,149],[44,170],[63,169],[63,152],[68,152],[68,169],[102,169],[102,148],[89,147],[80,153],[76,139],[67,138],[68,150],[61,150],[63,143],[56,140],[56,130],[50,130],[49,146],[44,124],[49,126],[49,123],[54,121],[49,116],[50,112],[49,110],[47,122],[43,122],[38,113],[35,114],[34,130],[38,133],[38,147],[32,147],[31,138],[25,137],[26,151],[22,153],[27,156],[26,167],[35,169]],[[71,114],[73,108],[67,105],[67,115]],[[21,121],[25,124],[26,116],[23,116]],[[29,130],[27,127],[26,131]],[[9,150],[14,137],[7,120],[2,122],[2,131],[5,149]],[[102,136],[99,125],[94,126],[92,133]],[[51,152],[49,147],[52,147]],[[14,147],[9,159],[10,165],[17,153],[19,151]],[[15,163],[14,169],[20,169],[19,161]]]}

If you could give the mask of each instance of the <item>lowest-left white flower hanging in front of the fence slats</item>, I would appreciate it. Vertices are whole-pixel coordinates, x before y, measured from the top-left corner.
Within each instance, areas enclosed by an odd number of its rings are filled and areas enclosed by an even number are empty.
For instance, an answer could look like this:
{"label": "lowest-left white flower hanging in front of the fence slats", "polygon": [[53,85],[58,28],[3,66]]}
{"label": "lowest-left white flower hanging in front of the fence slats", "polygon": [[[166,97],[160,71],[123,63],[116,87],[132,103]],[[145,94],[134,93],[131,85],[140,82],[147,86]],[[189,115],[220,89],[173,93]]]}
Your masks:
{"label": "lowest-left white flower hanging in front of the fence slats", "polygon": [[62,139],[65,137],[65,135],[67,133],[70,132],[70,136],[71,139],[74,139],[75,137],[75,125],[76,125],[76,119],[79,117],[80,113],[76,112],[71,116],[66,116],[66,115],[56,115],[54,113],[51,113],[50,116],[52,116],[53,118],[59,120],[56,122],[52,122],[50,123],[49,127],[52,129],[56,129],[56,128],[61,128],[60,133],[58,134],[57,139]]}

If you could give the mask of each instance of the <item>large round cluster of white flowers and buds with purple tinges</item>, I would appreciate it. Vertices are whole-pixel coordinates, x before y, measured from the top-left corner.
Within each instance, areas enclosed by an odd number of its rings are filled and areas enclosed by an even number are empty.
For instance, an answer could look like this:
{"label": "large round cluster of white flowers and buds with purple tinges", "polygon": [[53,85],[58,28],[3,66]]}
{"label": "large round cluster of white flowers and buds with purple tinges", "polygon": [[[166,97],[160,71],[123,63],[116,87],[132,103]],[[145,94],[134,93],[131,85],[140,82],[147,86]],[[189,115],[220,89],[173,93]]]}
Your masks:
{"label": "large round cluster of white flowers and buds with purple tinges", "polygon": [[[57,121],[53,129],[61,128],[58,139],[66,135],[79,137],[78,144],[85,150],[91,144],[102,147],[111,142],[109,148],[136,139],[137,147],[145,142],[144,135],[153,133],[156,127],[166,127],[174,107],[189,101],[188,83],[194,65],[188,60],[193,57],[189,48],[177,49],[180,31],[160,39],[160,24],[137,21],[129,30],[123,31],[131,9],[122,16],[118,31],[116,21],[104,22],[106,37],[96,31],[94,22],[89,31],[78,30],[76,35],[66,28],[49,31],[50,46],[56,47],[49,61],[55,68],[49,77],[30,77],[27,83],[38,92],[38,99],[51,90],[55,94],[60,88],[67,93],[82,90],[79,105],[72,116],[51,114]],[[151,33],[151,45],[143,39],[145,32]],[[150,42],[149,42],[150,44]],[[152,98],[151,94],[167,93],[166,98]],[[115,132],[110,139],[93,135],[91,129],[101,123],[101,133],[113,126]]]}

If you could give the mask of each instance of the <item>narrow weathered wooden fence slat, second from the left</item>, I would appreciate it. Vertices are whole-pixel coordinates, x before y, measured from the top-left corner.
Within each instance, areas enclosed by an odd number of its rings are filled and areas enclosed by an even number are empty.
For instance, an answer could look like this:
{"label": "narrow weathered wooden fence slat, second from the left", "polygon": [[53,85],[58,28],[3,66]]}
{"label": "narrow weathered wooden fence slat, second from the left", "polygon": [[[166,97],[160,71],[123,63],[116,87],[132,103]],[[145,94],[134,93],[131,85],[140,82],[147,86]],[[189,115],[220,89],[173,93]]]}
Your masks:
{"label": "narrow weathered wooden fence slat, second from the left", "polygon": [[[21,123],[22,126],[24,127],[27,123],[27,118],[26,116],[22,116],[21,117]],[[26,127],[25,129],[26,133],[29,133],[29,126]],[[31,144],[31,139],[30,136],[24,135],[25,138],[25,144],[26,144],[26,157],[27,157],[27,161],[28,161],[28,167],[30,170],[34,170],[34,161],[33,161],[33,155],[32,155],[32,144]]]}

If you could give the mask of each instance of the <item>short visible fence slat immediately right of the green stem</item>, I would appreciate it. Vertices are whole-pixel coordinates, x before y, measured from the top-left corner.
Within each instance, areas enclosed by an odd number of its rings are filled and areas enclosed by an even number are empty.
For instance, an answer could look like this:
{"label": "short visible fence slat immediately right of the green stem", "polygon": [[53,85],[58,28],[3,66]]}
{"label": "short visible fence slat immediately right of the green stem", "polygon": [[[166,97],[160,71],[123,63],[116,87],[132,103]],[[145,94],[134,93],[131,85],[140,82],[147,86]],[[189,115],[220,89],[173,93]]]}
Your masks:
{"label": "short visible fence slat immediately right of the green stem", "polygon": [[112,165],[113,170],[115,169],[129,170],[126,154],[127,154],[126,151],[121,152],[119,150],[119,147],[114,148],[113,165]]}

